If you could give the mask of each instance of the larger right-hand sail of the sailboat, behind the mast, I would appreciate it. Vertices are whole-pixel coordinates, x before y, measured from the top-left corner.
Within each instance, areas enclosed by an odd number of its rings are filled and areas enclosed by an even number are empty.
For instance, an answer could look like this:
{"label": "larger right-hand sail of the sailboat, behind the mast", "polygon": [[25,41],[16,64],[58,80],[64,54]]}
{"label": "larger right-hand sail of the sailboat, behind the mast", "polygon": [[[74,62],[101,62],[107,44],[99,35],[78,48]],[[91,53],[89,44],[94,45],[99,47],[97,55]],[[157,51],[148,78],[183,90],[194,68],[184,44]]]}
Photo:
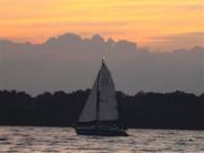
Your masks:
{"label": "larger right-hand sail of the sailboat, behind the mast", "polygon": [[99,121],[118,120],[118,102],[114,83],[106,65],[102,63],[99,80]]}

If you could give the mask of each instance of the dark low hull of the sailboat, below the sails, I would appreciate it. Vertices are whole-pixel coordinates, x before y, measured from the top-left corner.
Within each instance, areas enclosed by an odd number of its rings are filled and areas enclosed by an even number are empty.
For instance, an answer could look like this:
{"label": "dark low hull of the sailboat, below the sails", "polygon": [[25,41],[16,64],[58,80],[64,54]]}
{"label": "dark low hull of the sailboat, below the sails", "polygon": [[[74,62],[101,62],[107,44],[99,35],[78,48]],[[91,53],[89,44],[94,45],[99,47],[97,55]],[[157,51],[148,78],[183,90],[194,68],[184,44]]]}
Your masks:
{"label": "dark low hull of the sailboat, below the sails", "polygon": [[75,128],[78,135],[99,135],[99,136],[128,136],[128,133],[116,129],[95,129],[95,128]]}

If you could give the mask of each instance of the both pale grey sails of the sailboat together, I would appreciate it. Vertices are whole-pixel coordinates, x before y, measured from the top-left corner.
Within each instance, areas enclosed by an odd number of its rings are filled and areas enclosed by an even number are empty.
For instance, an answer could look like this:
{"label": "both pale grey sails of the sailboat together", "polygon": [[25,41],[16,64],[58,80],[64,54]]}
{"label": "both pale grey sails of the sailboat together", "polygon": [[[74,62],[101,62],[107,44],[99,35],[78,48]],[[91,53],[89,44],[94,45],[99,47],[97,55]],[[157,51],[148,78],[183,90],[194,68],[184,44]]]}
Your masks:
{"label": "both pale grey sails of the sailboat together", "polygon": [[119,119],[114,83],[104,62],[82,110],[79,122],[115,121]]}

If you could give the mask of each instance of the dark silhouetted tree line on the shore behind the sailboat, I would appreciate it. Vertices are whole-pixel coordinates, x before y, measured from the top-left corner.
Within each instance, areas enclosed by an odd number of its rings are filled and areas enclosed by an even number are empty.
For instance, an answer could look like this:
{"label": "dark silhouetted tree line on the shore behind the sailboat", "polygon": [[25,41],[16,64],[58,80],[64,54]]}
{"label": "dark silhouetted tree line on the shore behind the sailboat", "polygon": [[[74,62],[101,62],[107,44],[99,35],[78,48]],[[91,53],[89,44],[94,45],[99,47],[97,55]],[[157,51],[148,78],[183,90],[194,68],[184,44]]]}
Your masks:
{"label": "dark silhouetted tree line on the shore behind the sailboat", "polygon": [[[71,126],[75,124],[90,90],[57,91],[31,96],[0,91],[1,125]],[[204,93],[116,92],[120,122],[126,128],[204,130]]]}

